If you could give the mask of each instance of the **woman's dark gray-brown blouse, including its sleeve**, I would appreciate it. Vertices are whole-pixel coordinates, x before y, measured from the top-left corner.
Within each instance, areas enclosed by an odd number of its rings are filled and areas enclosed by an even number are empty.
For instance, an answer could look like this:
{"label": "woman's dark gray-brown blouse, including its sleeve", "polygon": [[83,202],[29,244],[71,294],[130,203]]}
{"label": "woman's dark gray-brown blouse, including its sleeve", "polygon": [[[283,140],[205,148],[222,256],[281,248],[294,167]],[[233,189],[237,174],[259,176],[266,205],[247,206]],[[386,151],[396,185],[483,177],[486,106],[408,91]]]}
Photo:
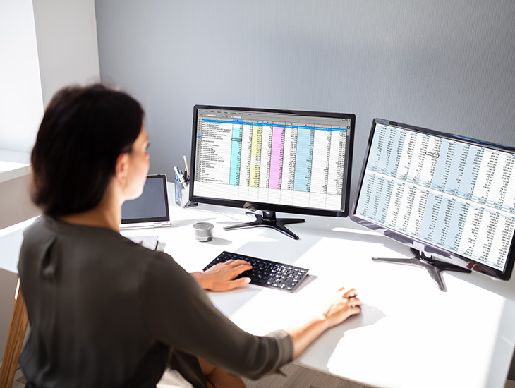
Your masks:
{"label": "woman's dark gray-brown blouse, including its sleeve", "polygon": [[170,360],[205,387],[192,356],[250,378],[293,357],[286,332],[244,332],[169,255],[111,229],[40,217],[18,270],[31,327],[19,360],[38,388],[155,387]]}

